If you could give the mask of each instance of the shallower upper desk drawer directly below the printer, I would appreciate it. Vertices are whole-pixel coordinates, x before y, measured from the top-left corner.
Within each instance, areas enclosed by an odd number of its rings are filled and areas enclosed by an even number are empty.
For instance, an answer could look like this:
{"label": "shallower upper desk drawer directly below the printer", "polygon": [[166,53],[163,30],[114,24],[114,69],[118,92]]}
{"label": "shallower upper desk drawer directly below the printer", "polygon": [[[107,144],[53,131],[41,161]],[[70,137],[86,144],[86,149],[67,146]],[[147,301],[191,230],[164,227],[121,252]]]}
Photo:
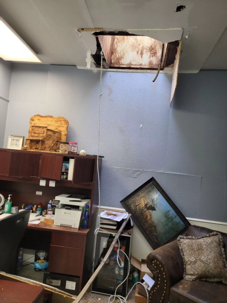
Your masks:
{"label": "shallower upper desk drawer directly below the printer", "polygon": [[51,245],[83,248],[84,236],[72,235],[63,232],[52,232]]}

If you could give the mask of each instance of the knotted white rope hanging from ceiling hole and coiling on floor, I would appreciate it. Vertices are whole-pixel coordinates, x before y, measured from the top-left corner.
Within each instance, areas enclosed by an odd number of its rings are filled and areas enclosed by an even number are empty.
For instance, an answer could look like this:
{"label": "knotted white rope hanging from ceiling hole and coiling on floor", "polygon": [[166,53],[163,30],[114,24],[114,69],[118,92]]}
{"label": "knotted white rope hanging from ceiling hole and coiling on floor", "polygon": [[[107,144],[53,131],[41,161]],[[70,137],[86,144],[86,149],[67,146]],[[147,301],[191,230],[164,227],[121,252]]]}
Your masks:
{"label": "knotted white rope hanging from ceiling hole and coiling on floor", "polygon": [[[101,48],[102,48],[102,45],[101,45]],[[98,202],[99,202],[99,226],[98,226],[98,228],[94,232],[95,235],[97,235],[97,233],[98,233],[99,230],[105,231],[102,228],[100,228],[100,223],[101,223],[101,217],[100,217],[100,176],[99,176],[99,168],[98,168],[98,161],[99,161],[99,138],[100,138],[100,104],[101,104],[101,96],[102,96],[103,48],[102,48],[102,50],[100,52],[100,55],[101,55],[101,72],[100,72],[100,94],[99,94],[99,118],[98,118],[98,152],[97,152],[97,172],[98,172],[98,192],[99,192],[99,197],[98,197]],[[126,278],[117,286],[114,295],[110,296],[108,303],[113,303],[116,298],[119,299],[121,303],[127,303],[128,296],[130,295],[131,291],[133,290],[133,288],[137,284],[141,284],[145,288],[146,295],[147,295],[147,303],[148,303],[148,292],[147,292],[146,287],[141,282],[137,282],[137,283],[135,283],[133,285],[133,287],[128,292],[126,298],[124,298],[121,295],[116,295],[117,289],[127,280],[128,276],[129,276],[129,273],[130,273],[130,261],[129,261],[129,258],[126,255],[126,253],[120,249],[120,241],[119,241],[118,237],[117,237],[117,241],[118,241],[117,263],[118,263],[118,265],[121,268],[123,267],[123,262],[122,262],[122,260],[120,259],[120,256],[119,256],[119,252],[121,251],[126,256],[126,258],[128,259],[128,262],[129,262],[129,264],[128,264],[128,273],[127,273]],[[119,263],[119,260],[120,260],[120,263]],[[111,301],[111,299],[113,299],[113,300]]]}

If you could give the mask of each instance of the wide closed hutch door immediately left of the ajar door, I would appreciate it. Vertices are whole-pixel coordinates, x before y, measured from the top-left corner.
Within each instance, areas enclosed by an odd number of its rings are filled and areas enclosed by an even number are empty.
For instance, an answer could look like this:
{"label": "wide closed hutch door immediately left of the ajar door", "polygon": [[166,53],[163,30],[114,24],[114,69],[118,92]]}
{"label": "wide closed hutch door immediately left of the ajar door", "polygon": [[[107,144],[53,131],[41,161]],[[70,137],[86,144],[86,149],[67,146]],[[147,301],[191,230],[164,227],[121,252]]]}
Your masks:
{"label": "wide closed hutch door immediately left of the ajar door", "polygon": [[9,176],[38,177],[40,155],[11,151]]}

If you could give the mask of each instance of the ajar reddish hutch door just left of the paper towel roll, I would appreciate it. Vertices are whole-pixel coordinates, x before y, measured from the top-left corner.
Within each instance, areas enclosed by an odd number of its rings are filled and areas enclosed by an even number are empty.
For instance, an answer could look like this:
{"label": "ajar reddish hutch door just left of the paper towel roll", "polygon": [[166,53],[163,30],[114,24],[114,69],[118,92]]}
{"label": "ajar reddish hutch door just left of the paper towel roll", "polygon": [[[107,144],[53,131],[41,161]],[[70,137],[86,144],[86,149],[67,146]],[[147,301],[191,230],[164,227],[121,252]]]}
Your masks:
{"label": "ajar reddish hutch door just left of the paper towel roll", "polygon": [[61,180],[63,157],[41,155],[39,177]]}

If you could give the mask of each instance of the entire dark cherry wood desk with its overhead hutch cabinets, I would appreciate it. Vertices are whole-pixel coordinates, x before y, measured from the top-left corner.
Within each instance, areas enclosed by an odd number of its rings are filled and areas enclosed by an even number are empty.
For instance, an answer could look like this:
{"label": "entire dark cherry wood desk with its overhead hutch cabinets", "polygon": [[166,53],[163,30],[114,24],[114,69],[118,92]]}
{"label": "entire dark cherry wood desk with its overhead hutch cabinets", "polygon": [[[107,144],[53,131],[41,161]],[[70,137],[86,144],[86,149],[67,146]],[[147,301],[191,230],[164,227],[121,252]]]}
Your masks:
{"label": "entire dark cherry wood desk with its overhead hutch cabinets", "polygon": [[[72,181],[61,180],[64,160],[74,158]],[[102,158],[98,160],[101,172]],[[40,180],[46,186],[40,186]],[[55,187],[49,186],[55,180]],[[36,192],[41,191],[42,195]],[[0,148],[0,193],[12,194],[12,205],[41,205],[61,194],[85,195],[91,200],[87,229],[28,224],[21,246],[50,252],[48,271],[74,275],[79,278],[79,289],[86,284],[93,261],[94,229],[98,203],[97,157],[45,153]]]}

